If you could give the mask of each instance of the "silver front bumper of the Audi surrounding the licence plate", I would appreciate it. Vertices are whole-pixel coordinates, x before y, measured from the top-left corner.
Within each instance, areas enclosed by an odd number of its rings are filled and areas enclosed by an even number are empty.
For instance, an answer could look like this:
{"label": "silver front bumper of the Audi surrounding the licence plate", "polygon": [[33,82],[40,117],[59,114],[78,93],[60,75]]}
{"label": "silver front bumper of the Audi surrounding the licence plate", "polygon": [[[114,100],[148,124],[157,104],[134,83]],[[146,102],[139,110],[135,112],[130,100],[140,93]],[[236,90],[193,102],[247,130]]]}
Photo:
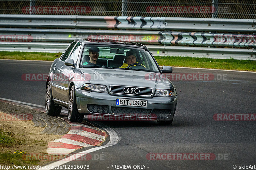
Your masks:
{"label": "silver front bumper of the Audi surrounding the licence plate", "polygon": [[[116,105],[116,98],[122,99],[136,99],[136,100],[148,100],[147,107],[129,107],[129,106],[119,106]],[[86,92],[81,89],[76,89],[76,104],[77,109],[80,114],[99,114],[99,115],[112,115],[112,116],[127,116],[113,113],[113,108],[122,107],[124,109],[132,108],[133,110],[143,109],[147,110],[148,114],[143,114],[143,117],[154,117],[158,120],[171,120],[174,116],[176,104],[177,104],[177,96],[174,97],[153,97],[153,98],[141,98],[141,97],[127,97],[127,96],[118,96],[118,95],[110,95],[109,93],[100,93],[100,92]],[[106,106],[106,111],[104,113],[95,113],[88,109],[87,104],[89,105],[104,105]],[[89,106],[88,105],[88,106]],[[117,108],[121,109],[121,108]],[[158,112],[169,110],[168,116],[162,116]],[[129,117],[140,117],[140,114],[134,113],[133,115],[129,115]]]}

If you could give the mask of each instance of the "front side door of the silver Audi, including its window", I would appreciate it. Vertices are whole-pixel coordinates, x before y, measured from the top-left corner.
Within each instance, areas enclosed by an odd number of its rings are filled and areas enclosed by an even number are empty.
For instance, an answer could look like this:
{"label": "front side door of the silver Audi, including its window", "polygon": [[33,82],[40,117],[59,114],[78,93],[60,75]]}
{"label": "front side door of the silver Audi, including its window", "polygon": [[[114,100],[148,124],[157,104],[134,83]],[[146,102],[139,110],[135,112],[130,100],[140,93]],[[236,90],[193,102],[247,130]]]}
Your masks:
{"label": "front side door of the silver Audi, including its window", "polygon": [[[74,63],[77,65],[77,59],[79,56],[79,52],[81,49],[81,43],[77,42],[75,47],[72,49],[72,52],[69,54],[68,59],[73,59]],[[65,60],[64,60],[65,61]],[[63,62],[64,62],[63,61]],[[67,66],[63,64],[60,70],[60,78],[59,78],[59,98],[62,101],[68,102],[68,82],[69,75],[75,68],[72,66]]]}

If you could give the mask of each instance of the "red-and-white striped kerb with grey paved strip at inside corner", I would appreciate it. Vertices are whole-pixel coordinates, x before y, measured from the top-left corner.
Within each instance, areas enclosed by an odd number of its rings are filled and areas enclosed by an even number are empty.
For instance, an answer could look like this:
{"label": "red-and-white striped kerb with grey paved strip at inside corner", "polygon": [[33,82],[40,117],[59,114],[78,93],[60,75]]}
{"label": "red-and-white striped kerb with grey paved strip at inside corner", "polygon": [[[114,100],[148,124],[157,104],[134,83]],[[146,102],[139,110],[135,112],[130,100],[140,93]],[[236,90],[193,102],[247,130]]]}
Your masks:
{"label": "red-and-white striped kerb with grey paved strip at inside corner", "polygon": [[[99,146],[107,138],[105,131],[93,126],[89,122],[68,122],[66,115],[57,117],[45,114],[44,108],[33,106],[15,100],[8,101],[0,98],[0,105],[4,105],[4,112],[33,115],[32,121],[36,127],[44,127],[40,134],[63,135],[48,143],[46,152],[49,154],[68,154],[88,146]],[[11,106],[12,105],[12,106]],[[1,107],[3,108],[3,107]],[[64,111],[65,113],[65,111]]]}

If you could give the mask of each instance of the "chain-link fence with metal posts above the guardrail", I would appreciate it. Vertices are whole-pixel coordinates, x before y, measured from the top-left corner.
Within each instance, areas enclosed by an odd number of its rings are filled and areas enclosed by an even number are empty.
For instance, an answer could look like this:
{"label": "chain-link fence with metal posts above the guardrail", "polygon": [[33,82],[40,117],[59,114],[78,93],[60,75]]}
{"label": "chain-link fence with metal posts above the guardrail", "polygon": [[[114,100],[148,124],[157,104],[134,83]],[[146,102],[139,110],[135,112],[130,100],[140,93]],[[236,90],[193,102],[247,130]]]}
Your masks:
{"label": "chain-link fence with metal posts above the guardrail", "polygon": [[0,14],[255,19],[256,0],[0,0]]}

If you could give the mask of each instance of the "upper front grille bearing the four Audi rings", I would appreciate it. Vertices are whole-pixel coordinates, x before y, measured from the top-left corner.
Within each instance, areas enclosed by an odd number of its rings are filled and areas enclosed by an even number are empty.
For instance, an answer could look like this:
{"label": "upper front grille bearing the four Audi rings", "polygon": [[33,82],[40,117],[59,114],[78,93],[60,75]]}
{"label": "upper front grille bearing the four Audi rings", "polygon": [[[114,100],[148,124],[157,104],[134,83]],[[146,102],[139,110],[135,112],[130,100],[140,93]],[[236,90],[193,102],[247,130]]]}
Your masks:
{"label": "upper front grille bearing the four Audi rings", "polygon": [[[124,88],[135,88],[139,89],[140,93],[125,93]],[[145,87],[131,87],[131,86],[119,86],[119,85],[110,85],[110,91],[113,94],[126,94],[132,96],[151,96],[153,93],[153,88],[145,88]]]}

